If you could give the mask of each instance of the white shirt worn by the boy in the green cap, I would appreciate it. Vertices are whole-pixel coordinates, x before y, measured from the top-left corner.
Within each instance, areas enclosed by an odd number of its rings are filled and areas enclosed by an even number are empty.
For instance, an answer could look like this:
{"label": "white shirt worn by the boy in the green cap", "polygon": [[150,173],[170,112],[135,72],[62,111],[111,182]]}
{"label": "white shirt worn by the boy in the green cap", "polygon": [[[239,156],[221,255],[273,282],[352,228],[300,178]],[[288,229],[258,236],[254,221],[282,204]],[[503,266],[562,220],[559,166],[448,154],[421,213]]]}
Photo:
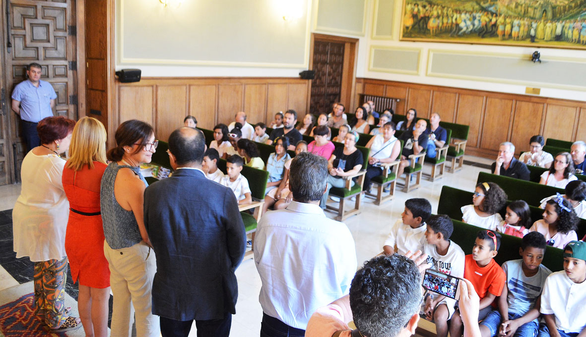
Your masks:
{"label": "white shirt worn by the boy in the green cap", "polygon": [[586,328],[586,281],[574,283],[565,271],[551,273],[541,294],[541,314],[556,316],[556,328],[580,333]]}

